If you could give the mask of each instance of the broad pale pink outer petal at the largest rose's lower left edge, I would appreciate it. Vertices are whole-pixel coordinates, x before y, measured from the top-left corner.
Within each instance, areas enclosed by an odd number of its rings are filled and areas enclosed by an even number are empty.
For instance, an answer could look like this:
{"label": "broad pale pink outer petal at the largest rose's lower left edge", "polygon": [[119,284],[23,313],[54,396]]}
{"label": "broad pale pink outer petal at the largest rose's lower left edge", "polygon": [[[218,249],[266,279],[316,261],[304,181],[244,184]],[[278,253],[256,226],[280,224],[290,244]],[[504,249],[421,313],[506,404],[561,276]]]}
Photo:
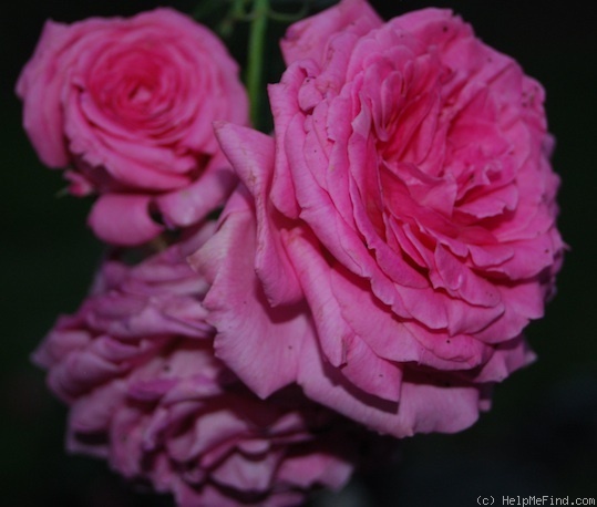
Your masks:
{"label": "broad pale pink outer petal at the largest rose's lower left edge", "polygon": [[224,216],[216,235],[189,261],[212,283],[204,306],[217,329],[216,355],[265,397],[296,379],[302,341],[313,331],[301,306],[269,306],[253,267],[251,210]]}

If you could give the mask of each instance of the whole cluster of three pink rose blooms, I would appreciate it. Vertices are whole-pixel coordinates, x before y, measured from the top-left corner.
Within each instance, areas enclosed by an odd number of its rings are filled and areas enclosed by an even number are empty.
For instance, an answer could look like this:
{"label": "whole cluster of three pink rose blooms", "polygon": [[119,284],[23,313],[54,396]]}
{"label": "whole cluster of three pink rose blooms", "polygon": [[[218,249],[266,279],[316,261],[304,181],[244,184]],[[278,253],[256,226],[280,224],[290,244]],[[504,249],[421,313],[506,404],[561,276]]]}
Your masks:
{"label": "whole cluster of three pink rose blooms", "polygon": [[470,426],[533,361],[562,265],[544,92],[513,59],[364,0],[280,44],[271,134],[171,9],[48,22],[17,85],[113,246],[34,354],[68,446],[182,506],[299,505],[381,435]]}

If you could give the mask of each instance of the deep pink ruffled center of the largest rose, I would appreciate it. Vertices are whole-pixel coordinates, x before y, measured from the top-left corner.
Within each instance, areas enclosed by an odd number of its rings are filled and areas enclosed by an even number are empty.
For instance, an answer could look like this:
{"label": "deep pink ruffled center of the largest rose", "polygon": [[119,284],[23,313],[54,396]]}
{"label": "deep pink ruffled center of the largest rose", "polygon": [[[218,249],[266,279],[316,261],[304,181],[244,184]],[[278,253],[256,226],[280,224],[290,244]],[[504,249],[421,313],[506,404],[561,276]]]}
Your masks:
{"label": "deep pink ruffled center of the largest rose", "polygon": [[370,107],[379,173],[367,176],[369,199],[378,203],[367,209],[378,234],[395,245],[397,228],[408,224],[416,248],[431,250],[438,236],[495,242],[495,218],[514,209],[517,194],[512,143],[491,91],[478,87],[461,100],[463,84],[430,55],[388,66],[378,64],[381,86],[368,69],[354,94]]}

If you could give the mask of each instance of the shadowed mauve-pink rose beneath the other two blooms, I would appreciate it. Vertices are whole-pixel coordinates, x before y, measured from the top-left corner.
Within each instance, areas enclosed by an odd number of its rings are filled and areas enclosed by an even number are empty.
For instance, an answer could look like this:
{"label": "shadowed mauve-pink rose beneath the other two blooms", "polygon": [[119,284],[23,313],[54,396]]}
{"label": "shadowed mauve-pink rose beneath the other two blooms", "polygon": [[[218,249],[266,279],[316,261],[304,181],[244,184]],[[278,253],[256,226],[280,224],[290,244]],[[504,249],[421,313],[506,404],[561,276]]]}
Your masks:
{"label": "shadowed mauve-pink rose beneath the other two blooms", "polygon": [[106,261],[34,360],[71,407],[70,451],[181,506],[299,505],[342,486],[378,444],[296,387],[259,400],[214,356],[207,286],[185,261],[212,229],[134,267]]}

